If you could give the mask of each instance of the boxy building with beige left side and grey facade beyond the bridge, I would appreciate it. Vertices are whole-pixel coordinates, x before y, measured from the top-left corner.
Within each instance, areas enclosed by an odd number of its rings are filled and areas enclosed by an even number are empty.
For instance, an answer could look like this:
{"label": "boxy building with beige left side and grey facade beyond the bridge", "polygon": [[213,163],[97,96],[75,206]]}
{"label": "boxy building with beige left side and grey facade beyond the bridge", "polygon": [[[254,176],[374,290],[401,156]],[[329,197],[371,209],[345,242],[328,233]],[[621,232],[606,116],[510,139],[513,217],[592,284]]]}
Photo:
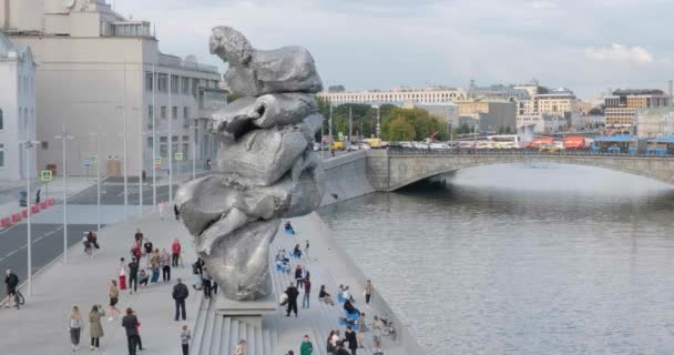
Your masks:
{"label": "boxy building with beige left side and grey facade beyond the bridge", "polygon": [[482,132],[515,129],[515,104],[509,101],[463,100],[457,101],[460,118],[477,120]]}

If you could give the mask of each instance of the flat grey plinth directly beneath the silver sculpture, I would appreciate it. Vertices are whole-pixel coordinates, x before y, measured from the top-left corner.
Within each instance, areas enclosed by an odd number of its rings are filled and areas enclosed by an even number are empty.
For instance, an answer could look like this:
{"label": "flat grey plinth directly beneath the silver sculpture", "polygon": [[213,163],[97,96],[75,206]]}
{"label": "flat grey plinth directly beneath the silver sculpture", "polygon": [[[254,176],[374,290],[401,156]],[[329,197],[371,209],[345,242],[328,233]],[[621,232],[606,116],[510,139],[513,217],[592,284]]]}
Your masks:
{"label": "flat grey plinth directly beneath the silver sculpture", "polygon": [[278,300],[274,292],[265,298],[257,301],[234,301],[226,298],[222,294],[215,300],[215,312],[217,314],[258,326],[262,326],[262,317],[264,315],[275,314],[278,307]]}

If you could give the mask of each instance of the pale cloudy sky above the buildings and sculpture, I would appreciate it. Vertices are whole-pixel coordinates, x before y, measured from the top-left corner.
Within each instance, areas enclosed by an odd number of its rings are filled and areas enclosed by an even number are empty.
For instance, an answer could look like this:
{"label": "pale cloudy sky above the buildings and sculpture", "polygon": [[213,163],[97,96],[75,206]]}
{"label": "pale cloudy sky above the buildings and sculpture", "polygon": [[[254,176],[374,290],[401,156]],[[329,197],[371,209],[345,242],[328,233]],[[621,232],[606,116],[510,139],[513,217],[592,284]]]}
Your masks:
{"label": "pale cloudy sky above the buildings and sculpture", "polygon": [[672,0],[110,0],[156,26],[160,47],[218,63],[216,24],[261,49],[300,44],[325,83],[347,90],[521,83],[666,89]]}

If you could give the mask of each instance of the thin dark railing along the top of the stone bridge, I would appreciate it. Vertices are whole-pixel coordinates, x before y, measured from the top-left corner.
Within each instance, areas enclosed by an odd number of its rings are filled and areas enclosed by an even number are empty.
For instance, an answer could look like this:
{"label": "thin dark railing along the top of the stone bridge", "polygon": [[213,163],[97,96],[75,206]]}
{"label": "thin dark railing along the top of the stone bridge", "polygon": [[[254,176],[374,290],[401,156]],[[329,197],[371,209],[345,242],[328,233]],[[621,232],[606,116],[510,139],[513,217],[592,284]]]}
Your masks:
{"label": "thin dark railing along the top of the stone bridge", "polygon": [[388,155],[535,155],[535,156],[623,156],[674,159],[674,154],[595,152],[589,149],[539,151],[532,149],[413,149],[388,148]]}

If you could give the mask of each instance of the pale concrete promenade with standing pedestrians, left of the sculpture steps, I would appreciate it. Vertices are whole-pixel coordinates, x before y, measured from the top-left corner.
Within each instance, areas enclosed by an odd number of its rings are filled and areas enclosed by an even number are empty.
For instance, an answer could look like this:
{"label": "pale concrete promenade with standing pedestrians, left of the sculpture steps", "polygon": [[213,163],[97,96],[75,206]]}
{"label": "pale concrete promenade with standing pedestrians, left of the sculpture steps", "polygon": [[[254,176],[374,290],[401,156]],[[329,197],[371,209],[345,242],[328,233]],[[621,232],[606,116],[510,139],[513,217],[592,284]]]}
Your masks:
{"label": "pale concrete promenade with standing pedestrians, left of the sculpture steps", "polygon": [[[27,297],[21,310],[0,310],[0,349],[2,354],[71,354],[67,332],[70,310],[80,307],[84,328],[82,329],[80,349],[76,354],[90,354],[89,351],[89,311],[93,304],[101,304],[108,312],[108,290],[110,280],[118,280],[120,257],[130,262],[130,248],[135,229],[140,227],[154,247],[171,251],[171,243],[178,237],[183,246],[183,267],[173,267],[171,282],[150,284],[139,288],[133,295],[129,291],[120,292],[120,310],[132,307],[141,323],[140,333],[143,339],[144,354],[180,354],[180,326],[184,322],[174,322],[174,303],[172,287],[177,277],[188,286],[192,284],[191,264],[194,252],[187,231],[173,216],[160,221],[157,214],[142,220],[131,221],[105,227],[99,235],[101,250],[95,258],[89,260],[80,245],[70,250],[69,263],[57,261],[43,270],[33,280],[33,296]],[[145,266],[145,257],[141,266]],[[201,293],[190,286],[186,301],[187,323],[193,323],[201,302]],[[27,290],[22,293],[27,295]],[[104,336],[101,338],[100,354],[123,355],[126,351],[126,335],[121,326],[121,318],[102,321]]]}

